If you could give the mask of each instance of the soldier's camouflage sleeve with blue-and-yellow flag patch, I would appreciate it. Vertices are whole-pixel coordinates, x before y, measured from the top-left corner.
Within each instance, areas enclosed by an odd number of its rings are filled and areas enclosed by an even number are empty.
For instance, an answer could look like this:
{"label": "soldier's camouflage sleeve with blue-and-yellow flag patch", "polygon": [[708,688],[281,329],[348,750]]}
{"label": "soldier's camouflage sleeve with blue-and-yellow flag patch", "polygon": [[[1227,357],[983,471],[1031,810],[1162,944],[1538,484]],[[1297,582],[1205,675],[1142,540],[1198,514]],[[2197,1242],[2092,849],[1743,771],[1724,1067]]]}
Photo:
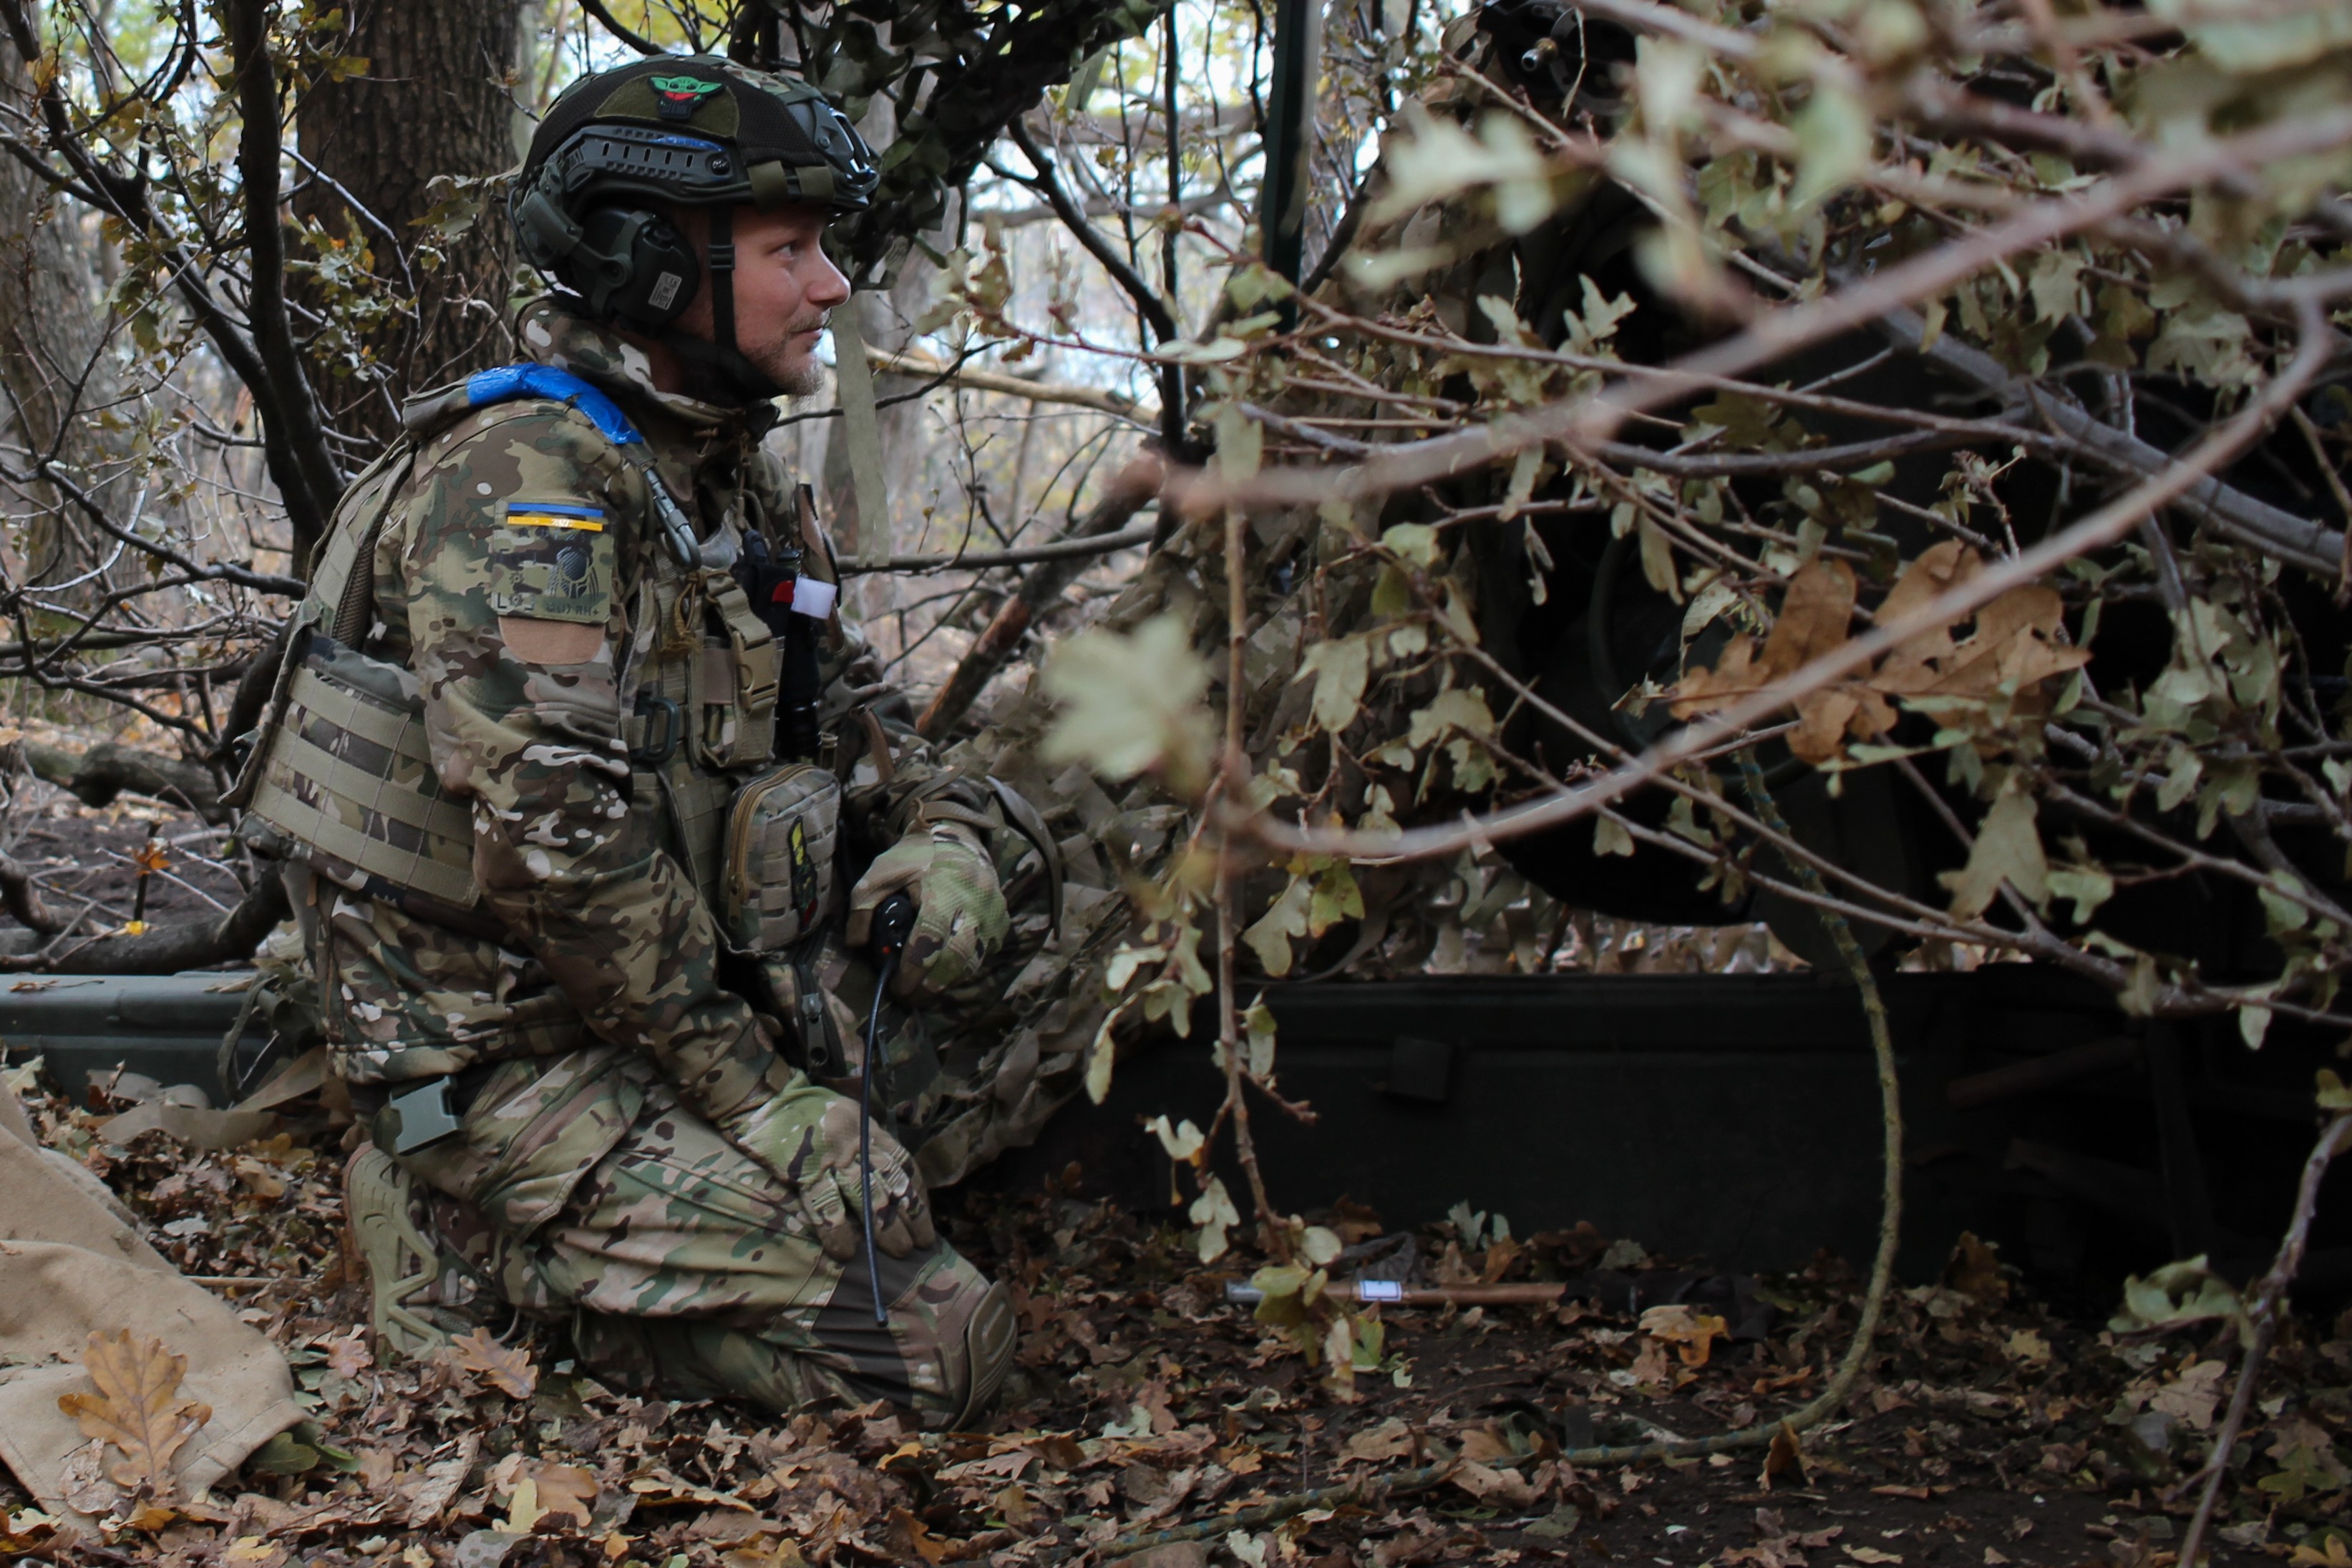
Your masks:
{"label": "soldier's camouflage sleeve with blue-and-yellow flag patch", "polygon": [[449,435],[423,454],[400,557],[433,757],[473,797],[482,898],[588,1027],[649,1053],[727,1126],[800,1074],[720,985],[710,912],[659,846],[661,813],[633,809],[619,661],[644,482],[586,418],[543,404]]}

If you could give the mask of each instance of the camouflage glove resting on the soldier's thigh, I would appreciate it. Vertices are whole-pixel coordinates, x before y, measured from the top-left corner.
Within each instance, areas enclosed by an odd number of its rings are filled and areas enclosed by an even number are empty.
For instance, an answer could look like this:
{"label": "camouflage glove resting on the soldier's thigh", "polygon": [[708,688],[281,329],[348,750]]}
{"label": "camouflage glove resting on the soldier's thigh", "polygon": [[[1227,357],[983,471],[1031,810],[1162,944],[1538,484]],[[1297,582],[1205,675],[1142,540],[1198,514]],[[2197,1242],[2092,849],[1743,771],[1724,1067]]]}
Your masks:
{"label": "camouflage glove resting on the soldier's thigh", "polygon": [[[816,1229],[826,1258],[849,1262],[866,1246],[858,1201],[858,1105],[830,1088],[802,1084],[729,1119],[739,1150],[786,1180]],[[898,1140],[875,1126],[875,1246],[891,1258],[938,1241],[931,1206]]]}

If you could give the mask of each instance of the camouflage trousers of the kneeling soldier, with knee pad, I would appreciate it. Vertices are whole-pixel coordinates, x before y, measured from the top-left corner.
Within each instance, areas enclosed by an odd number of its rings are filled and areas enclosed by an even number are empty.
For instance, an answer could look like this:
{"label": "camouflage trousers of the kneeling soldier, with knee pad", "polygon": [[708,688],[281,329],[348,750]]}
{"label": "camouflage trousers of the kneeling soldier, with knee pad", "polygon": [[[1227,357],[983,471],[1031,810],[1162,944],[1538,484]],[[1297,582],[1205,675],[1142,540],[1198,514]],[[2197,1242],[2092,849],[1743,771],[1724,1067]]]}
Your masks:
{"label": "camouflage trousers of the kneeling soldier, with knee pad", "polygon": [[[572,1060],[513,1098],[543,1107],[562,1100],[546,1093],[546,1077],[572,1070]],[[501,1077],[513,1070],[536,1072],[510,1063]],[[513,1204],[477,1208],[449,1197],[452,1187],[475,1185],[463,1180],[468,1166],[480,1168],[473,1159],[435,1150],[405,1157],[437,1192],[430,1211],[442,1241],[517,1309],[569,1316],[581,1361],[621,1387],[746,1399],[779,1413],[887,1399],[927,1427],[962,1415],[978,1371],[969,1366],[969,1331],[988,1279],[946,1241],[882,1255],[889,1321],[877,1326],[866,1258],[826,1255],[771,1171],[682,1110],[661,1079],[637,1077],[637,1086],[642,1103],[621,1138],[527,1229],[499,1222],[513,1218]],[[477,1107],[468,1124],[496,1119],[494,1103],[506,1098],[499,1088],[494,1079],[482,1093],[489,1110]],[[581,1088],[593,1093],[588,1081]],[[604,1107],[616,1110],[609,1098]],[[564,1110],[572,1133],[581,1103]],[[482,1147],[475,1126],[466,1143]],[[508,1150],[515,1159],[499,1164],[539,1164],[532,1143],[524,1133]]]}

